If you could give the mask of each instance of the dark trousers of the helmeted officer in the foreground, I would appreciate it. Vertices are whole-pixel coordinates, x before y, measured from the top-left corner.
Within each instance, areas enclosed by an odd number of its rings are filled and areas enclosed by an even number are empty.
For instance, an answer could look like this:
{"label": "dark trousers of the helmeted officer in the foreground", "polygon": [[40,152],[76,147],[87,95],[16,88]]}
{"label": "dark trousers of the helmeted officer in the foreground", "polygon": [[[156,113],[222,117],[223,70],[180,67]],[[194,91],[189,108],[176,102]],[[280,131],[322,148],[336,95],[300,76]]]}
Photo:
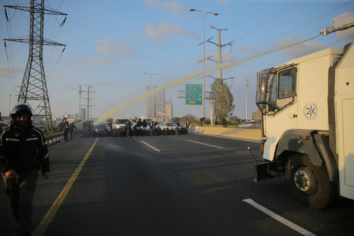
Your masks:
{"label": "dark trousers of the helmeted officer in the foreground", "polygon": [[38,173],[35,169],[19,174],[17,180],[4,179],[6,194],[10,198],[13,216],[19,226],[19,235],[32,232],[33,195],[36,189]]}

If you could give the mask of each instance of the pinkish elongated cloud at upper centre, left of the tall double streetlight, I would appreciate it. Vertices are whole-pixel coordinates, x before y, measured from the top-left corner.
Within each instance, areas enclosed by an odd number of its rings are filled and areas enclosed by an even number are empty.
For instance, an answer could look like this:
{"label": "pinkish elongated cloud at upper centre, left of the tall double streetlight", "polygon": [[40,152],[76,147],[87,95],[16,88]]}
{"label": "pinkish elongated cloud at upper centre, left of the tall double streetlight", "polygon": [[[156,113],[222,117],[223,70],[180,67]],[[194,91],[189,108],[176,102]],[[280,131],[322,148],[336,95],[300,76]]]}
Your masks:
{"label": "pinkish elongated cloud at upper centre, left of the tall double streetlight", "polygon": [[182,29],[178,24],[171,25],[167,23],[161,23],[157,25],[156,28],[152,24],[145,24],[144,31],[148,38],[160,43],[165,41],[166,36],[184,35],[189,38],[198,38],[198,35],[196,35],[194,31]]}

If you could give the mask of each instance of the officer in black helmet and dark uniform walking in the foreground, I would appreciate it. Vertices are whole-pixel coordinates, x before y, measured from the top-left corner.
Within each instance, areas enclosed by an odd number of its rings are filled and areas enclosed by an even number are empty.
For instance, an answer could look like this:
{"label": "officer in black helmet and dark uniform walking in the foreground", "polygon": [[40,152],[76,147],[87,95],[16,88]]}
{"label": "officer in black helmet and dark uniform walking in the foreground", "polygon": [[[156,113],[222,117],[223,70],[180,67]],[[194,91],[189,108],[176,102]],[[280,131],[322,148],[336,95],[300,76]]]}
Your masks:
{"label": "officer in black helmet and dark uniform walking in the foreground", "polygon": [[32,231],[37,172],[41,169],[45,179],[50,175],[45,137],[40,129],[32,126],[31,116],[29,105],[16,104],[10,115],[11,125],[0,137],[0,171],[18,223],[17,235],[30,235]]}

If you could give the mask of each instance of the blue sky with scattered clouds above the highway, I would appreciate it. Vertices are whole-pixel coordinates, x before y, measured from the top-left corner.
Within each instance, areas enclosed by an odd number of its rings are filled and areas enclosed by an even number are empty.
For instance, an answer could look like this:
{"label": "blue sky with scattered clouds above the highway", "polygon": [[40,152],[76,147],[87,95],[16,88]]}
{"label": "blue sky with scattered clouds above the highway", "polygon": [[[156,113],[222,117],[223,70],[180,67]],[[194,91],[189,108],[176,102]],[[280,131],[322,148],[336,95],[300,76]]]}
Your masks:
{"label": "blue sky with scattered clouds above the highway", "polygon": [[[28,4],[29,0],[2,0],[2,5]],[[202,106],[185,105],[177,91],[185,84],[201,84],[203,64],[203,15],[189,11],[195,8],[205,16],[205,39],[217,43],[221,31],[223,79],[231,86],[235,110],[233,115],[246,118],[245,77],[249,78],[248,118],[257,110],[255,104],[256,73],[324,48],[342,48],[354,41],[354,29],[320,36],[286,50],[250,59],[245,58],[294,44],[319,35],[322,29],[354,22],[353,0],[48,0],[45,6],[68,14],[64,17],[45,15],[44,37],[63,47],[44,46],[44,65],[48,96],[54,117],[75,114],[79,110],[79,84],[87,91],[92,85],[92,117],[132,117],[145,114],[144,92],[149,85],[165,86],[166,99],[173,102],[173,115],[188,113],[201,116]],[[29,16],[24,11],[6,8],[0,18],[1,38],[29,35]],[[28,59],[28,44],[6,41],[0,47],[0,111],[7,115],[16,103]],[[6,49],[6,51],[5,51]],[[217,46],[205,43],[206,57],[217,60]],[[198,63],[199,62],[199,63]],[[205,61],[211,70],[217,63]],[[217,70],[206,75],[217,77]],[[213,79],[205,78],[205,91]],[[136,92],[130,92],[136,91]],[[9,94],[12,96],[10,97]],[[135,95],[135,97],[134,97]],[[83,92],[82,97],[87,97]],[[81,99],[81,104],[86,104]],[[110,110],[110,111],[109,111]],[[109,113],[107,114],[107,111]],[[205,116],[210,117],[209,100]]]}

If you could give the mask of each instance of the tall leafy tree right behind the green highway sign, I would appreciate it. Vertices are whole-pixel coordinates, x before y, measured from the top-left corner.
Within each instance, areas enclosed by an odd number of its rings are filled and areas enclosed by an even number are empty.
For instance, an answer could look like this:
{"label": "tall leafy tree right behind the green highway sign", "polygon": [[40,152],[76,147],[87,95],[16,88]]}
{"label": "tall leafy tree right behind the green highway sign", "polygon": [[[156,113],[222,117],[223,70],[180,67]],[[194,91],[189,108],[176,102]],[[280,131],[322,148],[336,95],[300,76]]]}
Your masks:
{"label": "tall leafy tree right behind the green highway sign", "polygon": [[216,119],[221,125],[224,125],[226,124],[227,118],[232,116],[234,112],[234,96],[230,92],[230,87],[221,79],[214,80],[210,87],[211,92],[216,93]]}

